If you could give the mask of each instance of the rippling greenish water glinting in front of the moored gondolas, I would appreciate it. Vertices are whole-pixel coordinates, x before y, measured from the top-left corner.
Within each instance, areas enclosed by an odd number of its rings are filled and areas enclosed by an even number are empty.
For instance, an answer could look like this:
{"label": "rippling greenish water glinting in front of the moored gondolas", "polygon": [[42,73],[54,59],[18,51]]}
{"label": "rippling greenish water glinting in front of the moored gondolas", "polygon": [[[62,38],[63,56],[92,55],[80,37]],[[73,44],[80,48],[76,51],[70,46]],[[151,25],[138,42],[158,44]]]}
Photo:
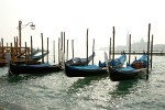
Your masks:
{"label": "rippling greenish water glinting in front of the moored gondolas", "polygon": [[148,80],[119,82],[64,72],[9,78],[0,68],[0,110],[165,110],[164,67],[164,56],[154,56]]}

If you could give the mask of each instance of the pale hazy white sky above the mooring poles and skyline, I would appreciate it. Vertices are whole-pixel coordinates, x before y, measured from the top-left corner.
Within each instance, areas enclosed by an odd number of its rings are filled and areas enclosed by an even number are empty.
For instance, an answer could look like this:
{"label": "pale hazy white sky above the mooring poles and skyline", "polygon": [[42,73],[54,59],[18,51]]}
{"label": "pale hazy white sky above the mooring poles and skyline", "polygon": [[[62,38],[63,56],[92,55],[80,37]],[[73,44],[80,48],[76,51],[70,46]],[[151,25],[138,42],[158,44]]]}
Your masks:
{"label": "pale hazy white sky above the mooring poles and skyline", "polygon": [[127,45],[128,32],[132,42],[142,37],[146,41],[151,23],[154,44],[164,44],[164,10],[163,0],[0,0],[0,37],[4,42],[13,41],[21,20],[23,24],[34,22],[36,25],[34,31],[22,30],[23,43],[30,42],[33,35],[34,45],[40,46],[41,33],[45,41],[50,37],[50,42],[57,42],[61,32],[66,32],[66,40],[75,40],[79,50],[86,47],[89,29],[89,47],[95,38],[99,48],[109,45],[112,26],[116,28],[116,45]]}

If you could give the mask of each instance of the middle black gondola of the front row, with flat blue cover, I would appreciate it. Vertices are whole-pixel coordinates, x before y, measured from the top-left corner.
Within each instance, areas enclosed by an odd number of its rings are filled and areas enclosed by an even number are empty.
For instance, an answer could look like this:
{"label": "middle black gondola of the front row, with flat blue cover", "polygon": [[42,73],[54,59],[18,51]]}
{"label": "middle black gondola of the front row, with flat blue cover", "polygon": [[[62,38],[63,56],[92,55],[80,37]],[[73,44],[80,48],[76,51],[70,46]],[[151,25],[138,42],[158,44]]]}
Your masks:
{"label": "middle black gondola of the front row, with flat blue cover", "polygon": [[[119,57],[119,64],[124,64],[125,59],[120,59],[123,57]],[[107,62],[105,62],[105,65]],[[68,77],[91,77],[91,76],[103,76],[108,75],[106,66],[99,65],[82,65],[82,66],[70,66],[65,63],[65,75]]]}

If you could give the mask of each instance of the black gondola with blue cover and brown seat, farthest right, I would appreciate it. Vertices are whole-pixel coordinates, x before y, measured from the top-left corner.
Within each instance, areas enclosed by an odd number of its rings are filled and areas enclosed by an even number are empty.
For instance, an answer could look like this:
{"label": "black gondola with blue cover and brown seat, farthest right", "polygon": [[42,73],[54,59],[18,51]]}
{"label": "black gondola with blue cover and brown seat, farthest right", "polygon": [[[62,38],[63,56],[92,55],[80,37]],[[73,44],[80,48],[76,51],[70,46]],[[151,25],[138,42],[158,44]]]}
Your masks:
{"label": "black gondola with blue cover and brown seat, farthest right", "polygon": [[144,53],[141,58],[135,58],[134,62],[131,65],[128,65],[127,67],[109,67],[109,77],[112,81],[142,78],[146,75],[147,66],[147,55]]}

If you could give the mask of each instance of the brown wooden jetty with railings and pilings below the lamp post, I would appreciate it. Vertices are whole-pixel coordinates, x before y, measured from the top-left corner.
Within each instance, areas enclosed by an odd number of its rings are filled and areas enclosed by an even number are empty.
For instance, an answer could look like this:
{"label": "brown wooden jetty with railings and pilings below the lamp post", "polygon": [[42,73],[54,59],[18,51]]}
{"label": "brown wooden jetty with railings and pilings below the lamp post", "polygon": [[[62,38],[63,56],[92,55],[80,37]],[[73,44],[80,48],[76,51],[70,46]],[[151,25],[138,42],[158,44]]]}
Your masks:
{"label": "brown wooden jetty with railings and pilings below the lamp post", "polygon": [[[42,36],[43,37],[43,36]],[[6,66],[7,63],[12,62],[15,64],[38,64],[41,62],[35,61],[32,58],[33,56],[33,40],[31,36],[31,47],[28,46],[26,42],[24,42],[24,46],[19,46],[18,37],[14,37],[14,45],[12,43],[4,46],[3,38],[1,38],[0,42],[0,66]],[[43,46],[43,41],[42,41]],[[40,51],[38,51],[40,52]],[[42,47],[42,55],[44,54],[44,48]],[[10,55],[10,57],[7,57],[7,54]],[[47,37],[47,54],[48,54],[48,37]],[[42,58],[42,63],[44,63],[44,58]],[[48,56],[47,56],[48,62]]]}

